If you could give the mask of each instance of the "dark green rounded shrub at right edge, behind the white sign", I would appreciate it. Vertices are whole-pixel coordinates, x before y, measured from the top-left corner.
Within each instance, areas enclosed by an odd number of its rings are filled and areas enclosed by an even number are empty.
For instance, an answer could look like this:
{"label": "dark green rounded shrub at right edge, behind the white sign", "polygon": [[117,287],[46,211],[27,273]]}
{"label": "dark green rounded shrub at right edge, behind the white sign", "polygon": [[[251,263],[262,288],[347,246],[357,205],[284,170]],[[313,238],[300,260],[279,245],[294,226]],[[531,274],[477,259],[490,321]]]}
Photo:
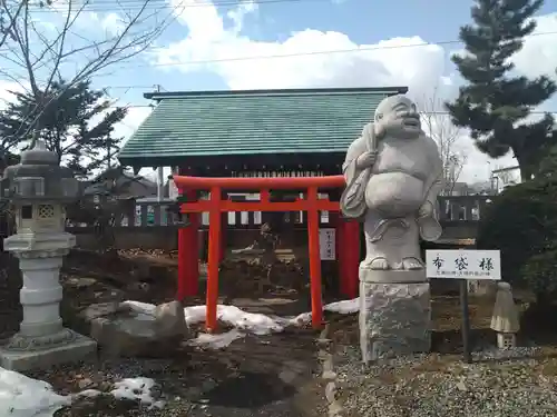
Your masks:
{"label": "dark green rounded shrub at right edge, behind the white sign", "polygon": [[557,178],[540,172],[505,190],[485,211],[477,247],[501,251],[502,279],[538,296],[557,295]]}

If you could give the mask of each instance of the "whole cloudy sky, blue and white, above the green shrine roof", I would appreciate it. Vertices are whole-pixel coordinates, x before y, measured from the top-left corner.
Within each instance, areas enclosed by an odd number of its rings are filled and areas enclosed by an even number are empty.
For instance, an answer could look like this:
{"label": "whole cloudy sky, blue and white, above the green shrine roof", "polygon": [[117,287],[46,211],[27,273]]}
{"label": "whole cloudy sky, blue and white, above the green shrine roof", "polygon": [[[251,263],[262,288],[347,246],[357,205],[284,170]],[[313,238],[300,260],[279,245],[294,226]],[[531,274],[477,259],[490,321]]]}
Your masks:
{"label": "whole cloudy sky, blue and white, above the green shrine roof", "polygon": [[[116,3],[91,0],[91,4],[95,1],[97,6],[84,12],[74,27],[77,43],[80,39],[100,40],[117,30]],[[120,0],[120,4],[137,11],[140,1]],[[119,103],[135,106],[120,127],[124,136],[149,113],[143,93],[154,85],[170,91],[389,85],[408,86],[411,96],[424,103],[432,95],[453,97],[461,80],[450,54],[462,47],[450,42],[458,40],[459,28],[470,21],[472,4],[468,0],[153,1],[154,9],[172,17],[173,23],[147,52],[92,77],[95,86],[108,88]],[[61,22],[55,13],[40,13],[37,19],[50,36]],[[555,76],[557,1],[546,1],[538,32],[556,33],[528,39],[515,59],[517,71],[530,77]],[[346,52],[328,53],[334,50]],[[74,57],[63,71],[71,75],[84,62]],[[3,69],[12,66],[1,64]],[[13,83],[0,75],[4,89]],[[546,103],[543,110],[557,110],[557,101]],[[487,177],[487,159],[473,150],[468,138],[461,142],[462,152],[470,155],[465,179]],[[514,165],[511,156],[491,163],[494,168],[508,165]]]}

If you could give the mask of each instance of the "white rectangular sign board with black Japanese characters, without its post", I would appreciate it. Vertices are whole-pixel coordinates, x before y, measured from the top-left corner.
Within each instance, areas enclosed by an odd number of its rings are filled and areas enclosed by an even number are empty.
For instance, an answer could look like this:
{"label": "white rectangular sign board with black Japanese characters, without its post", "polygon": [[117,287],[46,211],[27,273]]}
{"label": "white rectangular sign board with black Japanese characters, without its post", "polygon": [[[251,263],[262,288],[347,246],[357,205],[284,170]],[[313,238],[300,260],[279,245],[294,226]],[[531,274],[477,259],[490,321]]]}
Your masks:
{"label": "white rectangular sign board with black Japanese characters, without its post", "polygon": [[499,250],[427,250],[428,278],[501,279]]}

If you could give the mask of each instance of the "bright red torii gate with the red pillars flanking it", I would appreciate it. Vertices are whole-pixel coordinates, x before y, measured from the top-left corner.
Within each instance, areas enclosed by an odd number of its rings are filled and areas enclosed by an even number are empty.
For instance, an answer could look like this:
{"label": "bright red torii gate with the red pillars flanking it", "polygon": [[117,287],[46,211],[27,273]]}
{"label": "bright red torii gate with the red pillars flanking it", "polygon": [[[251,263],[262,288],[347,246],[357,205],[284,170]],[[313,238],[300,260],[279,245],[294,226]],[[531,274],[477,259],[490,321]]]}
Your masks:
{"label": "bright red torii gate with the red pillars flanking it", "polygon": [[[182,202],[180,212],[190,215],[190,225],[178,232],[178,291],[177,299],[197,294],[199,214],[209,214],[208,267],[206,294],[206,328],[217,325],[218,264],[223,258],[222,214],[228,211],[305,211],[307,214],[307,242],[310,258],[310,286],[312,325],[322,326],[323,304],[321,295],[321,258],[319,242],[319,212],[336,214],[336,242],[341,291],[349,297],[358,296],[358,265],[360,261],[360,225],[340,219],[340,205],[329,198],[319,198],[320,189],[342,188],[343,176],[329,177],[264,177],[264,178],[205,178],[174,176],[180,195],[189,197]],[[231,201],[222,199],[223,190],[253,190],[260,192],[260,201]],[[270,201],[270,190],[305,189],[305,198],[295,201]],[[195,200],[197,190],[211,192],[207,200]],[[226,225],[225,225],[226,227]]]}

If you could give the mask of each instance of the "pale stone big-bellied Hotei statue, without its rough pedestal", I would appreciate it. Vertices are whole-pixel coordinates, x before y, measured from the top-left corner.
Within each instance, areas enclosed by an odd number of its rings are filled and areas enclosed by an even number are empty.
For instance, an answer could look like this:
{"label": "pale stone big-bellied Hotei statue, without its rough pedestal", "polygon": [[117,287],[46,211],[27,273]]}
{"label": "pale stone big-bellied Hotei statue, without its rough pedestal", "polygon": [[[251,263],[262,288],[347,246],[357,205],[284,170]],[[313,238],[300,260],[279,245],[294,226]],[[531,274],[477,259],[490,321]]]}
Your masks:
{"label": "pale stone big-bellied Hotei statue, without its rough pedestal", "polygon": [[361,269],[423,269],[419,237],[432,241],[442,231],[436,207],[443,169],[410,99],[398,95],[381,101],[373,122],[350,146],[343,172],[342,212],[364,220]]}

